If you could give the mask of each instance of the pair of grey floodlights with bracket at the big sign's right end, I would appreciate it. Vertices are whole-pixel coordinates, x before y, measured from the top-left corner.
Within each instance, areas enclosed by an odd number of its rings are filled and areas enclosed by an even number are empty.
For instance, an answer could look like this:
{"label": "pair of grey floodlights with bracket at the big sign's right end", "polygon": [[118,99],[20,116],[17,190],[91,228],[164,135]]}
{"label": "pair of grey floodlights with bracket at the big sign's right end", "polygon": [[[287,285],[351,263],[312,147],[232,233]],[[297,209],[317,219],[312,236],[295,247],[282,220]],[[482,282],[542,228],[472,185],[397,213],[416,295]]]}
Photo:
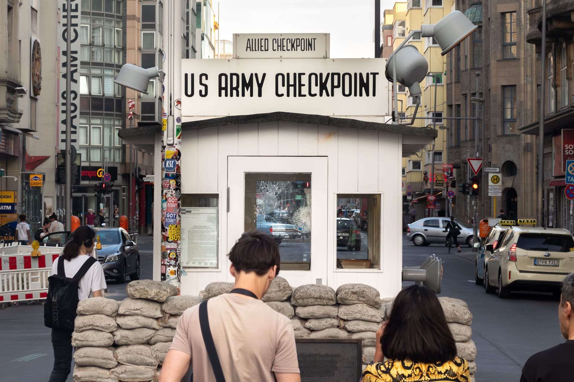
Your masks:
{"label": "pair of grey floodlights with bracket at the big sign's right end", "polygon": [[[413,45],[406,45],[406,43],[416,34],[420,33],[421,37],[433,37],[440,48],[443,49],[440,52],[441,55],[445,55],[450,52],[456,45],[460,44],[465,38],[467,38],[478,26],[472,24],[470,20],[461,11],[452,11],[442,18],[436,24],[421,25],[421,29],[411,30],[409,35],[406,36],[405,40],[393,50],[389,60],[387,61],[387,67],[385,68],[385,75],[389,81],[393,81],[393,92],[394,96],[394,112],[398,112],[398,101],[397,101],[397,82],[403,85],[409,86],[409,92],[412,90],[420,94],[420,86],[415,87],[414,83],[420,83],[424,79],[424,75],[421,77],[420,70],[421,66],[410,64],[409,60],[420,60],[420,58],[413,52],[416,50]],[[411,46],[412,48],[408,48]],[[407,48],[407,53],[401,52],[402,49]],[[418,53],[418,52],[417,52]],[[420,53],[418,53],[420,55]],[[421,56],[422,57],[422,56]],[[398,65],[397,65],[398,61]],[[397,67],[400,71],[397,71]],[[427,65],[428,68],[428,65]],[[389,69],[391,69],[389,71]],[[425,73],[426,75],[426,73]],[[402,82],[404,81],[404,82]],[[417,94],[410,94],[411,96],[417,96]],[[414,123],[418,111],[418,105],[420,104],[420,99],[417,99],[416,108],[414,110],[413,118],[411,122],[398,123],[402,125],[411,125]]]}

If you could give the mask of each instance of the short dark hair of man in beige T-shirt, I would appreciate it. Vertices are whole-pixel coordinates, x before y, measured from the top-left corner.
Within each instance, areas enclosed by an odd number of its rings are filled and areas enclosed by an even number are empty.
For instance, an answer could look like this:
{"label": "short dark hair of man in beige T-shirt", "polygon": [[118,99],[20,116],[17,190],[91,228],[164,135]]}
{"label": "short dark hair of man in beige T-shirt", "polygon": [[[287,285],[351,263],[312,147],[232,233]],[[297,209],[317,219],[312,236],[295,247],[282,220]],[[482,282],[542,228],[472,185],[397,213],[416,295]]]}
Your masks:
{"label": "short dark hair of man in beige T-shirt", "polygon": [[229,252],[229,260],[236,271],[266,274],[269,268],[277,266],[279,274],[281,258],[279,247],[273,237],[261,231],[243,233]]}

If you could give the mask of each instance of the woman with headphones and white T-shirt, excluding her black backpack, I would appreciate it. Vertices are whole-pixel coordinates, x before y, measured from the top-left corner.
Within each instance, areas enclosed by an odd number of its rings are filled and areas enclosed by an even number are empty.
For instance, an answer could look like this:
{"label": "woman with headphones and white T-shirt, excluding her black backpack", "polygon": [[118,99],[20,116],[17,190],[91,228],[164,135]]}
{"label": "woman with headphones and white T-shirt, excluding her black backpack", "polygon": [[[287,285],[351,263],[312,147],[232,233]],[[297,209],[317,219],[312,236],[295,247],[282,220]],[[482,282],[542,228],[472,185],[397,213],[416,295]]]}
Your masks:
{"label": "woman with headphones and white T-shirt, excluding her black backpack", "polygon": [[[88,225],[76,228],[66,243],[62,255],[52,264],[52,275],[60,276],[61,271],[64,271],[64,277],[73,278],[79,271],[86,272],[78,284],[78,301],[88,297],[103,297],[103,290],[106,289],[106,279],[100,263],[94,262],[87,270],[86,267],[82,268],[94,250],[95,237],[94,229]],[[60,262],[64,262],[63,267]],[[49,382],[65,382],[72,364],[72,331],[52,327],[52,347],[54,368]]]}

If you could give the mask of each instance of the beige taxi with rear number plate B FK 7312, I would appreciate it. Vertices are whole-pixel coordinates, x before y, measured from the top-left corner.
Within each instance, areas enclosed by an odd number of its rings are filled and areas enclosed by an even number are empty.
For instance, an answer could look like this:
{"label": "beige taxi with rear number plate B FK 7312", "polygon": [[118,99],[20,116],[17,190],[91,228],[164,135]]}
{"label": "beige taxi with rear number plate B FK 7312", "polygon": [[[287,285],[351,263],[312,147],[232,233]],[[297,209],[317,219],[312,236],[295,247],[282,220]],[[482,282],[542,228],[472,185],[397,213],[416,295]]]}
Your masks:
{"label": "beige taxi with rear number plate B FK 7312", "polygon": [[[518,221],[520,223],[520,221]],[[507,298],[514,290],[560,293],[564,276],[574,272],[574,237],[567,229],[518,227],[504,233],[484,269],[484,290]]]}

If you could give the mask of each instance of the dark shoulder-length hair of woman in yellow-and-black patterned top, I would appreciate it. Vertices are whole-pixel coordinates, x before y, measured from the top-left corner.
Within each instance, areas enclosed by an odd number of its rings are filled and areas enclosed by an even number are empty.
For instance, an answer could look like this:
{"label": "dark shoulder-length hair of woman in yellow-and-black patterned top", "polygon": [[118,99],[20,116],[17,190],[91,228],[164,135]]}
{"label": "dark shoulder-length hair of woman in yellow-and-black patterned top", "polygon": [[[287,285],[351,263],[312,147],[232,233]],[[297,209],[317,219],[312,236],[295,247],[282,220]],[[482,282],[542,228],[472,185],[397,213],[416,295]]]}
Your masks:
{"label": "dark shoulder-length hair of woman in yellow-and-black patterned top", "polygon": [[435,363],[456,357],[455,339],[443,307],[422,285],[406,287],[394,299],[381,346],[389,360]]}

